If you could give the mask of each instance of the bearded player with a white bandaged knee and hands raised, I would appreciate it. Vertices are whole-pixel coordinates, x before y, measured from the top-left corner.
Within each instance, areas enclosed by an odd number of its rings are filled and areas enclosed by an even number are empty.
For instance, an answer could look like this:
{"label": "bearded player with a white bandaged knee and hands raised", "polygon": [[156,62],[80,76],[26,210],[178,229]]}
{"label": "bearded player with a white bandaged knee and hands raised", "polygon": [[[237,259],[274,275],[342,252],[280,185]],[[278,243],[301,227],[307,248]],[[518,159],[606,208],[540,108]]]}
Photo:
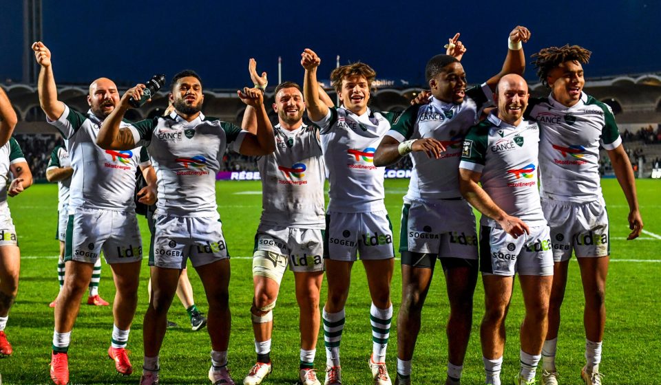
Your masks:
{"label": "bearded player with a white bandaged knee and hands raised", "polygon": [[[259,76],[256,66],[257,62],[251,58],[251,80],[255,87],[265,89],[268,84],[266,72]],[[275,152],[258,159],[262,178],[262,218],[255,234],[255,294],[250,309],[257,362],[243,384],[262,384],[273,370],[270,357],[273,309],[288,265],[294,274],[299,305],[299,379],[303,385],[319,385],[314,362],[320,322],[319,289],[324,277],[322,233],[326,226],[326,169],[319,127],[303,123],[305,103],[301,87],[296,83],[283,82],[275,87],[273,111],[278,120],[273,128]],[[242,126],[253,131],[256,129],[254,122],[254,109],[247,107]]]}

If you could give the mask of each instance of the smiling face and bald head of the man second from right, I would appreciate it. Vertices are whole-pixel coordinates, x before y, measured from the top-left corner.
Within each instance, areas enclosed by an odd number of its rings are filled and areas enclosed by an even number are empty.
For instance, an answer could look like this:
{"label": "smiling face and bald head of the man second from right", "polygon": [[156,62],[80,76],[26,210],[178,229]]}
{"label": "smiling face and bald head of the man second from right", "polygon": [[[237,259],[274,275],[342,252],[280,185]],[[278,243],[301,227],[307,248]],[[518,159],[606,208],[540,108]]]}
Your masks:
{"label": "smiling face and bald head of the man second from right", "polygon": [[498,118],[516,126],[523,119],[523,111],[528,105],[528,85],[518,75],[503,76],[498,83],[496,105]]}

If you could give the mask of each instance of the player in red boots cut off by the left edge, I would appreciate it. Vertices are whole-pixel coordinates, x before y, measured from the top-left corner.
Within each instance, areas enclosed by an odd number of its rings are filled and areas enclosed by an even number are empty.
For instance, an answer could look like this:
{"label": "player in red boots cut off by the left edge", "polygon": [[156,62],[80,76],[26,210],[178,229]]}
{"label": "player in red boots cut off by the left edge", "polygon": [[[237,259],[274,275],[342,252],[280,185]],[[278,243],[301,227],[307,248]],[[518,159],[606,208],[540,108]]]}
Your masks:
{"label": "player in red boots cut off by the left edge", "polygon": [[[7,195],[14,197],[32,184],[32,173],[18,142],[12,137],[17,116],[12,103],[0,89],[0,357],[11,355],[14,349],[7,340],[5,327],[9,310],[19,290],[21,251],[16,228],[7,205]],[[9,173],[14,179],[8,185]]]}

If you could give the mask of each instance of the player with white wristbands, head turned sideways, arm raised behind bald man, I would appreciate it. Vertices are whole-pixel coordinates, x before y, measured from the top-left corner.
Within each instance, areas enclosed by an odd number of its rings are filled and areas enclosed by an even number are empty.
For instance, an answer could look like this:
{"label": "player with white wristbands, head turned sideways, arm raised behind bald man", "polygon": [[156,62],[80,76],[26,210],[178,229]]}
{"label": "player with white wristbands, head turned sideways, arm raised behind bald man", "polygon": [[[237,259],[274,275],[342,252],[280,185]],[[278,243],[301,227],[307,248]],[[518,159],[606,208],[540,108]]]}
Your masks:
{"label": "player with white wristbands, head turned sideways, arm raised behind bald man", "polygon": [[450,300],[445,383],[460,381],[478,272],[475,217],[468,202],[461,198],[457,179],[461,144],[470,126],[479,122],[483,107],[492,103],[493,89],[501,76],[523,74],[521,42],[529,36],[527,28],[514,28],[501,72],[480,87],[466,90],[466,75],[459,63],[465,47],[456,34],[446,54],[434,56],[427,63],[430,103],[406,109],[375,153],[375,166],[395,164],[409,153],[413,163],[401,216],[402,294],[397,319],[396,384],[411,383],[421,311],[437,259],[443,267]]}

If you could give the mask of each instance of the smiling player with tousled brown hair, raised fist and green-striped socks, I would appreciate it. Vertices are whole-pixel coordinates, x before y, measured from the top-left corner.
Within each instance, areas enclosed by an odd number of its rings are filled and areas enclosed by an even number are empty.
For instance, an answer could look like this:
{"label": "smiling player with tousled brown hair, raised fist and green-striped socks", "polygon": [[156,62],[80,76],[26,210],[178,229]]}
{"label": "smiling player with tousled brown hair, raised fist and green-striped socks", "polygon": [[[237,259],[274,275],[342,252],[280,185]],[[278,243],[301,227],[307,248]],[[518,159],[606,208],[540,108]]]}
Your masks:
{"label": "smiling player with tousled brown hair, raised fist and green-striped socks", "polygon": [[321,128],[330,181],[324,234],[328,281],[328,299],[322,315],[326,345],[324,384],[342,384],[339,344],[345,322],[344,305],[351,268],[359,255],[372,299],[373,349],[368,364],[374,383],[389,385],[386,348],[392,320],[390,280],[395,250],[392,247],[392,225],[384,204],[384,169],[373,165],[373,156],[397,114],[379,113],[368,108],[370,87],[376,73],[364,63],[333,70],[330,80],[342,106],[329,108],[319,98],[317,67],[320,63],[315,52],[304,50],[301,59],[305,69],[304,96],[309,118]]}

